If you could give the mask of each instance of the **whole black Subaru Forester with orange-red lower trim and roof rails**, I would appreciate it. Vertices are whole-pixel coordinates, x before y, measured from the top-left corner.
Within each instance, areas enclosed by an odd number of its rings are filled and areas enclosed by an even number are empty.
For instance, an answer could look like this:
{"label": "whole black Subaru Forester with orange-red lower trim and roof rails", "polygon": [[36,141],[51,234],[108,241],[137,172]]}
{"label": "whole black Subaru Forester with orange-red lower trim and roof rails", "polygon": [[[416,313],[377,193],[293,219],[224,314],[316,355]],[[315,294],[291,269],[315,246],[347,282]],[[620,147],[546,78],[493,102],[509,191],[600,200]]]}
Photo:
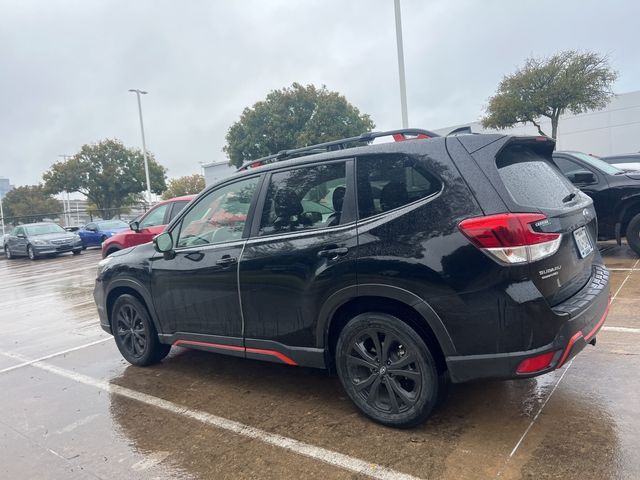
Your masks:
{"label": "whole black Subaru Forester with orange-red lower trim and roof rails", "polygon": [[134,365],[179,345],[333,368],[395,427],[424,421],[447,379],[550,372],[609,305],[592,200],[553,148],[404,130],[258,160],[100,262],[102,327]]}

